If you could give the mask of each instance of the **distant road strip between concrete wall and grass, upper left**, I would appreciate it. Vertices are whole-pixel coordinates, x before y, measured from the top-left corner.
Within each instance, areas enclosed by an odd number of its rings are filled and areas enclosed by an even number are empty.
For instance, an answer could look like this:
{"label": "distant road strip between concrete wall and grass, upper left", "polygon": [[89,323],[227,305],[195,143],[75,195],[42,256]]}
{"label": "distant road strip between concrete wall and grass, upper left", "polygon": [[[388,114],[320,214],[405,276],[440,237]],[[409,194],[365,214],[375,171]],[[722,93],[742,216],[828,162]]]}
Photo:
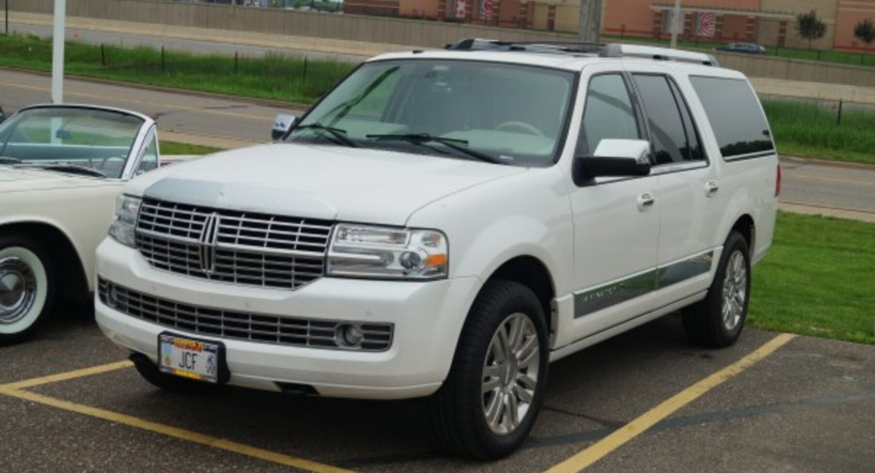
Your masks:
{"label": "distant road strip between concrete wall and grass, upper left", "polygon": [[[41,38],[50,38],[52,36],[52,26],[45,25],[10,23],[9,30],[10,32],[17,32],[20,34],[34,34]],[[161,49],[161,47],[164,46],[166,49],[172,51],[199,54],[234,55],[234,53],[240,53],[242,56],[261,57],[267,53],[280,53],[288,56],[299,56],[302,58],[306,56],[311,60],[338,60],[355,64],[367,59],[365,56],[356,56],[352,54],[323,53],[291,48],[219,43],[214,41],[200,41],[197,39],[167,38],[131,32],[100,32],[78,28],[67,28],[66,39],[68,41],[81,41],[93,45],[150,46],[155,49]]]}

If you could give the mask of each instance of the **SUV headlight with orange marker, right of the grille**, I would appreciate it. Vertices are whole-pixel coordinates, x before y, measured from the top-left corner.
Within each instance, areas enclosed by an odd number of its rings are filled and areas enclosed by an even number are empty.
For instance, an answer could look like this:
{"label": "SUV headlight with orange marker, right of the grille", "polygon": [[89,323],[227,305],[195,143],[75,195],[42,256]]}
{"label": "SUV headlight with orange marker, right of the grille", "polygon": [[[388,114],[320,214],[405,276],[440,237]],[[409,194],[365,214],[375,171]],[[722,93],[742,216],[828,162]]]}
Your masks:
{"label": "SUV headlight with orange marker, right of the grille", "polygon": [[329,276],[376,279],[443,279],[444,234],[431,229],[393,229],[340,223],[328,249]]}

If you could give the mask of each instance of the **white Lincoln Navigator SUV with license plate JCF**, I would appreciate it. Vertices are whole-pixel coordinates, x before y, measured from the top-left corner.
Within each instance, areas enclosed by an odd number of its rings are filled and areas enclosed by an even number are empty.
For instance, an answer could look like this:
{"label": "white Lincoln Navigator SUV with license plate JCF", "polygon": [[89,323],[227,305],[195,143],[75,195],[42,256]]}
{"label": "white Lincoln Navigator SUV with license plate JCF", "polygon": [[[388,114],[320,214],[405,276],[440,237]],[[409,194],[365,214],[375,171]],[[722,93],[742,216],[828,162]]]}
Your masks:
{"label": "white Lincoln Navigator SUV with license plate JCF", "polygon": [[757,96],[706,54],[387,54],[275,143],[131,181],[97,321],[159,387],[430,396],[445,448],[496,458],[551,361],[678,310],[735,342],[779,189]]}

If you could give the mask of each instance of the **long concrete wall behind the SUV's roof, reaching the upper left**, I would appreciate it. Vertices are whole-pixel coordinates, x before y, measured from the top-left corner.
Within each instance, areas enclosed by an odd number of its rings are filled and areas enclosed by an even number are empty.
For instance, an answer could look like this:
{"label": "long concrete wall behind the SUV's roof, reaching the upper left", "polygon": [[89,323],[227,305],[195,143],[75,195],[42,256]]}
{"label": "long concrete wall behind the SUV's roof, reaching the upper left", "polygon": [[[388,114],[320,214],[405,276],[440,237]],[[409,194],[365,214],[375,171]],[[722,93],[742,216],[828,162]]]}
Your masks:
{"label": "long concrete wall behind the SUV's roof, reaching the upper left", "polygon": [[[11,11],[51,13],[52,0],[10,0]],[[402,18],[338,15],[317,11],[260,9],[218,4],[147,0],[67,0],[70,17],[194,26],[221,30],[440,47],[463,38],[513,41],[568,40],[556,32],[493,28]]]}

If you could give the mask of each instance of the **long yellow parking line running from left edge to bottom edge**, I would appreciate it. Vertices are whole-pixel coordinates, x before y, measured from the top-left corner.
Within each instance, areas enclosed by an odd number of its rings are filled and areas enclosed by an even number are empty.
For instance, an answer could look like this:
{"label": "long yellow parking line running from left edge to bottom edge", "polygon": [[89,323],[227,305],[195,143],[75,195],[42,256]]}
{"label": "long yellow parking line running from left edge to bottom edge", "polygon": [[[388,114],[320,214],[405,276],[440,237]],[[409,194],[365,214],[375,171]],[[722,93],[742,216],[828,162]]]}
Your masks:
{"label": "long yellow parking line running from left edge to bottom edge", "polygon": [[235,454],[251,456],[253,458],[264,460],[265,462],[274,462],[297,469],[312,471],[314,473],[354,473],[350,469],[333,467],[331,465],[326,465],[325,463],[311,462],[310,460],[304,460],[303,458],[283,455],[276,452],[271,452],[269,450],[265,450],[263,448],[252,447],[251,445],[246,445],[235,441],[228,441],[210,435],[198,434],[197,432],[192,432],[190,430],[166,426],[164,424],[158,424],[157,422],[139,419],[137,417],[125,415],[122,413],[114,413],[111,411],[98,409],[96,407],[84,406],[62,399],[55,399],[44,396],[42,394],[37,394],[35,392],[10,389],[9,387],[4,386],[0,387],[0,394],[5,394],[13,398],[29,400],[31,402],[43,404],[45,406],[57,407],[59,409],[63,409],[65,411],[70,411],[73,413],[85,414],[91,417],[95,417],[97,419],[109,420],[110,422],[116,422],[117,424],[123,424],[129,427],[136,427],[143,430],[148,430],[156,434],[163,434],[184,441],[200,443],[201,445],[206,445],[207,447],[219,448],[221,450],[226,450]]}

